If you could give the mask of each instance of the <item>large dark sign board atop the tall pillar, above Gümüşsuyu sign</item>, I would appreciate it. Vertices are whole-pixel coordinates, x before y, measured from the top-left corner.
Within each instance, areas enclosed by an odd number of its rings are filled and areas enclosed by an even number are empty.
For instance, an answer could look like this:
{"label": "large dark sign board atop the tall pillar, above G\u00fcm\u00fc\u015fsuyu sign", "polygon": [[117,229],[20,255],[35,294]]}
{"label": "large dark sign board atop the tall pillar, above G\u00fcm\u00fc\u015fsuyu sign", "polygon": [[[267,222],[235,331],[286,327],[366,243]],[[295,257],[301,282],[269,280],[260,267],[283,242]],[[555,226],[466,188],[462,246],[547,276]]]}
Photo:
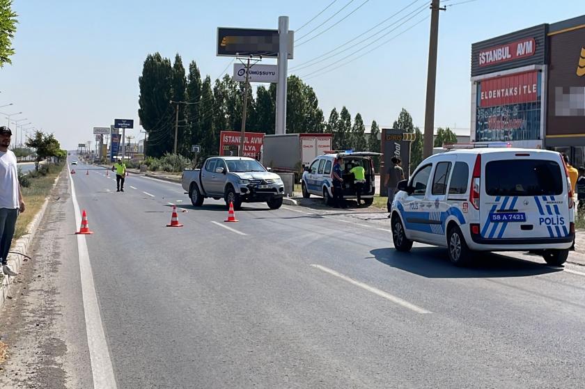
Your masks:
{"label": "large dark sign board atop the tall pillar, above G\u00fcm\u00fc\u015fsuyu sign", "polygon": [[[288,31],[288,59],[292,59],[294,31]],[[279,57],[279,31],[217,28],[217,56]]]}

